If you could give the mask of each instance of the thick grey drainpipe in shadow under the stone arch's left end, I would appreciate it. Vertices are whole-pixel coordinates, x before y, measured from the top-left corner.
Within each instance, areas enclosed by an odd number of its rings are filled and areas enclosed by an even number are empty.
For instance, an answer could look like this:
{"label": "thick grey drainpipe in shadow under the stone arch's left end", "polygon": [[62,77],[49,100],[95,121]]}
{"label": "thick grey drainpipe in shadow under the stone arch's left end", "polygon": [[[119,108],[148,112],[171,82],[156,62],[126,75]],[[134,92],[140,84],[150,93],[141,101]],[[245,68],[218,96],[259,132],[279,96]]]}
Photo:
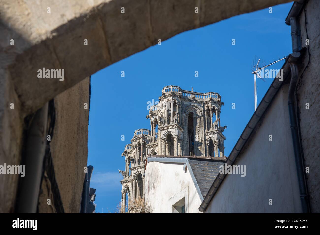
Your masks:
{"label": "thick grey drainpipe in shadow under the stone arch's left end", "polygon": [[36,213],[46,146],[48,102],[36,112],[28,129],[24,156],[25,176],[20,178],[17,213]]}

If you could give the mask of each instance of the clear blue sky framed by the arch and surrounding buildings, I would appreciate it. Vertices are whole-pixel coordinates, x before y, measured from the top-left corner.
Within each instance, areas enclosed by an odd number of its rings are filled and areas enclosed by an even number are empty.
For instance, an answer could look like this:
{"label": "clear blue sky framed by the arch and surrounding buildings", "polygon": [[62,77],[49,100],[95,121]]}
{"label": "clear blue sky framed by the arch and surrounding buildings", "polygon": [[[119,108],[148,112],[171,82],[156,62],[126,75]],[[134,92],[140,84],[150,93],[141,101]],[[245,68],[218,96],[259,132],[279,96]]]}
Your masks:
{"label": "clear blue sky framed by the arch and surrounding buildings", "polygon": [[[96,212],[115,212],[121,200],[123,177],[118,169],[124,170],[124,146],[136,129],[150,129],[147,102],[158,101],[165,86],[221,95],[221,126],[228,125],[225,155],[230,154],[254,112],[254,56],[268,64],[292,51],[290,26],[284,23],[291,6],[282,4],[272,7],[272,13],[267,8],[178,34],[91,76],[88,165],[94,167],[90,186],[96,188]],[[280,61],[269,68],[282,65]],[[273,79],[265,80],[257,80],[258,103]]]}

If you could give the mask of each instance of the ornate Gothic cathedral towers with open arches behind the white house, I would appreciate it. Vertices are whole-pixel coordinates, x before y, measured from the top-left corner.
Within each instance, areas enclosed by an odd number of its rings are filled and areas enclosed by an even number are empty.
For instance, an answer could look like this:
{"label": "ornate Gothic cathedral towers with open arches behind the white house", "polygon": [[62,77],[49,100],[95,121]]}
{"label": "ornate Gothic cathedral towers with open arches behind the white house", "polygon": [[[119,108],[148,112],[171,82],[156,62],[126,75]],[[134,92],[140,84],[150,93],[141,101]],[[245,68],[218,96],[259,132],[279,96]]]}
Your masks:
{"label": "ornate Gothic cathedral towers with open arches behind the white house", "polygon": [[[125,171],[121,210],[130,211],[131,202],[144,198],[144,167],[148,156],[223,157],[220,110],[224,105],[218,93],[184,91],[177,86],[162,89],[159,102],[149,109],[151,130],[138,129],[124,148]],[[127,199],[126,199],[127,198]]]}

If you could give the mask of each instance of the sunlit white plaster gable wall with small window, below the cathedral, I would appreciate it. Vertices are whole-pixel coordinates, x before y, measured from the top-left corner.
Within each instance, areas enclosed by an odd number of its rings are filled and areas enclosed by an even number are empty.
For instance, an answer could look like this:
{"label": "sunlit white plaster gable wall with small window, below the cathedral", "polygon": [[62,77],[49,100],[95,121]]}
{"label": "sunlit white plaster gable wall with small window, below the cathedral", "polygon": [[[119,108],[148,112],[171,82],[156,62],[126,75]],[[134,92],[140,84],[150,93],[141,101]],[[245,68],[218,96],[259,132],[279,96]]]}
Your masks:
{"label": "sunlit white plaster gable wall with small window, below the cathedral", "polygon": [[145,177],[145,199],[152,213],[172,213],[172,205],[183,197],[185,213],[200,213],[202,198],[183,163],[148,162]]}

